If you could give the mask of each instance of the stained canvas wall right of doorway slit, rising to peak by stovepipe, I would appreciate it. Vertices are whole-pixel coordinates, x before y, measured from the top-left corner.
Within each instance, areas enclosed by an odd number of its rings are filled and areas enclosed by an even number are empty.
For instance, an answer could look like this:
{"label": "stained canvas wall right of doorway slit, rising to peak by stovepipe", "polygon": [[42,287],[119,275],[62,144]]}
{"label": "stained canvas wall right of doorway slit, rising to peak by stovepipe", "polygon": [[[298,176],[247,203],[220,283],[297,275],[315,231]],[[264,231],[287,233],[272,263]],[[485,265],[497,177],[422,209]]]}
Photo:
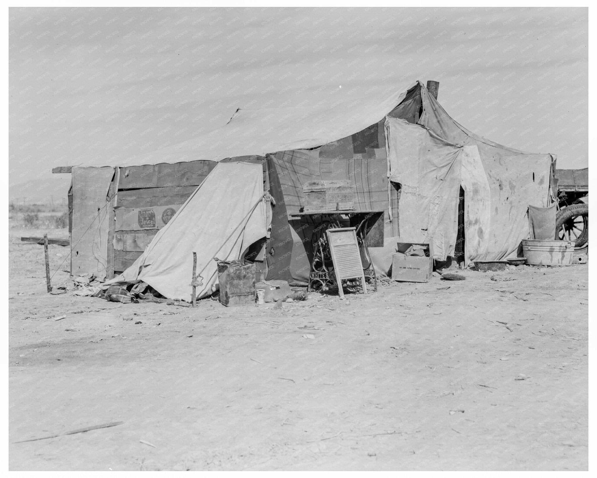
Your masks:
{"label": "stained canvas wall right of doorway slit, rising to peak by stovepipe", "polygon": [[[475,227],[469,217],[469,229],[465,228],[464,242],[466,260],[498,261],[507,258],[518,250],[522,239],[528,238],[528,205],[547,206],[552,155],[525,153],[472,133],[454,121],[422,85],[420,91],[423,112],[418,124],[455,145],[476,146],[490,188],[490,226],[488,231],[484,229],[484,235],[487,233],[488,237],[482,240],[475,238]],[[470,155],[467,157],[467,164],[472,169],[465,168],[464,174],[469,174],[469,180],[473,180],[473,176],[477,179],[470,184],[471,191],[465,192],[465,209],[470,216],[473,215],[473,210],[466,204],[475,208],[474,214],[483,218],[486,227],[487,216],[481,212],[487,210],[484,202],[487,198],[487,185],[479,183],[481,170],[478,161],[472,161],[472,158]],[[466,185],[465,180],[463,189]],[[475,187],[481,189],[473,192]],[[484,198],[483,204],[473,206],[479,197]],[[467,248],[466,238],[472,241],[471,247]]]}

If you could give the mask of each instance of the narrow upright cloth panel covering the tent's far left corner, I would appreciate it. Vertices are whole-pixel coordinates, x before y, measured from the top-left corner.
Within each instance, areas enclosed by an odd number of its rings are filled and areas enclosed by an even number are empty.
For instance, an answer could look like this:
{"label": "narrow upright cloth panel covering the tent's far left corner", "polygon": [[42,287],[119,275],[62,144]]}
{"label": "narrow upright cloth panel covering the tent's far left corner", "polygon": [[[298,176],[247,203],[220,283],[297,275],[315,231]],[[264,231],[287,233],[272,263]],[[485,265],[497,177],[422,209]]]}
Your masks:
{"label": "narrow upright cloth panel covering the tent's far left corner", "polygon": [[73,167],[71,274],[94,272],[106,277],[110,182],[113,167]]}

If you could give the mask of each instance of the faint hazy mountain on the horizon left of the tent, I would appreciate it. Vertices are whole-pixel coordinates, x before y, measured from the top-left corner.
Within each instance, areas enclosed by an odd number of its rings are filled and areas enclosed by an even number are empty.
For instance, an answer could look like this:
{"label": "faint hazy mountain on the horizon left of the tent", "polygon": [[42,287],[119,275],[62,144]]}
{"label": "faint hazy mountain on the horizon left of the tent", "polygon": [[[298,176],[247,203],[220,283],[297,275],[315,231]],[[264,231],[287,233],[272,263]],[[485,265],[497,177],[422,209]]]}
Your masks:
{"label": "faint hazy mountain on the horizon left of the tent", "polygon": [[10,201],[17,204],[67,204],[70,174],[53,174],[8,186]]}

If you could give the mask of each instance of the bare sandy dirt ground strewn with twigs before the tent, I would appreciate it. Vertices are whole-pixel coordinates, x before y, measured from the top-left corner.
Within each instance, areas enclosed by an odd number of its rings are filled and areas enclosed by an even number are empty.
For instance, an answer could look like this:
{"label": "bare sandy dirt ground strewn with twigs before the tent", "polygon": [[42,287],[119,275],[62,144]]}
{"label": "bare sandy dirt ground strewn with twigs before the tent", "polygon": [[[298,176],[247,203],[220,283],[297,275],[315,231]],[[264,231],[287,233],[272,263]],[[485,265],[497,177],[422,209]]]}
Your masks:
{"label": "bare sandy dirt ground strewn with twigs before the tent", "polygon": [[20,232],[11,470],[587,470],[586,264],[189,309],[48,295]]}

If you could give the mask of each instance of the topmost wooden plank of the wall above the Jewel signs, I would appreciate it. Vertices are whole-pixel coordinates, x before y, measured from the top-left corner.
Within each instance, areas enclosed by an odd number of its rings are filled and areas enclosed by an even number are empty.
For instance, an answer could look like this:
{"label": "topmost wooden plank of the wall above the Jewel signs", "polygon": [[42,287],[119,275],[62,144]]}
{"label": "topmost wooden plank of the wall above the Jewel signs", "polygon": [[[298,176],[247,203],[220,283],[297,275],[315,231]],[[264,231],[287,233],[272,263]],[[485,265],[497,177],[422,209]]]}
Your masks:
{"label": "topmost wooden plank of the wall above the Jewel signs", "polygon": [[216,161],[201,160],[125,167],[121,169],[119,189],[198,186],[216,164]]}

